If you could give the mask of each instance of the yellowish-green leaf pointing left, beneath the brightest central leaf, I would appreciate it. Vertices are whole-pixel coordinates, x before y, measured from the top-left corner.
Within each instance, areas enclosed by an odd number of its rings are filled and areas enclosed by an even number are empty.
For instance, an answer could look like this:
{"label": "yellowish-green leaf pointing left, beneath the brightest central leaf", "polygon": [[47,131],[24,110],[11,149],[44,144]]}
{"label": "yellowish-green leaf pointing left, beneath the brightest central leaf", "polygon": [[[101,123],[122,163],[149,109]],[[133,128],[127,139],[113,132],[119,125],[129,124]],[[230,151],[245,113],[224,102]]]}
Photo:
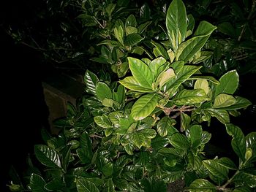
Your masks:
{"label": "yellowish-green leaf pointing left, beneath the brightest central leaf", "polygon": [[145,88],[143,85],[140,84],[137,80],[135,80],[135,77],[125,77],[124,80],[119,81],[121,85],[124,85],[124,87],[129,88],[132,91],[139,91],[143,93],[152,93],[154,92],[151,88]]}

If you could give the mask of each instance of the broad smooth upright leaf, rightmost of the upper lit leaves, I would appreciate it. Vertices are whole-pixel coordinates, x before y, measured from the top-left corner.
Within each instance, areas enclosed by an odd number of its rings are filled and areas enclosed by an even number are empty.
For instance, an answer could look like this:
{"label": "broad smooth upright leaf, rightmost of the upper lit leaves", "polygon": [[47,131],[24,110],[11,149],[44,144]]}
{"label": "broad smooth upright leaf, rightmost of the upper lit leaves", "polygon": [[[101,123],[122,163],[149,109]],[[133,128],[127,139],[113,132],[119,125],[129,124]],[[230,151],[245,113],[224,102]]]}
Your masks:
{"label": "broad smooth upright leaf, rightmost of the upper lit leaves", "polygon": [[219,93],[233,94],[238,88],[238,73],[236,70],[227,72],[219,79],[219,85],[216,86],[215,96]]}

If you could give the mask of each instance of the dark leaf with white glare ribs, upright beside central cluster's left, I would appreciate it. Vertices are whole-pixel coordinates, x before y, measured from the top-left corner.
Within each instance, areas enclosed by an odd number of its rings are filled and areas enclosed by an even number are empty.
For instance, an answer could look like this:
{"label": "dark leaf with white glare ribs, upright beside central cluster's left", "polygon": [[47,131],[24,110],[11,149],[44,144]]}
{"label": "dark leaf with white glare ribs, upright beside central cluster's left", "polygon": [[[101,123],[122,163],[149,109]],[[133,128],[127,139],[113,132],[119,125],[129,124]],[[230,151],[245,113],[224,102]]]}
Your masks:
{"label": "dark leaf with white glare ribs, upright beside central cluster's left", "polygon": [[93,72],[86,70],[84,75],[84,82],[86,84],[86,92],[96,95],[96,85],[99,82],[98,77]]}

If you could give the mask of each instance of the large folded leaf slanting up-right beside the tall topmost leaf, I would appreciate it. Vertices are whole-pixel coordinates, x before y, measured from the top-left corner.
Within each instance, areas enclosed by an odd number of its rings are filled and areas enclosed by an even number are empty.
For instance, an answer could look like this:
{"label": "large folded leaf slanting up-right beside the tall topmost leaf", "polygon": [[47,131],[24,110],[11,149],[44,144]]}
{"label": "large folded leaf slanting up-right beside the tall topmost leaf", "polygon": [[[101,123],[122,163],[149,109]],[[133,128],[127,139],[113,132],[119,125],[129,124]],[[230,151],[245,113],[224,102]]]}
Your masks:
{"label": "large folded leaf slanting up-right beside the tall topmost leaf", "polygon": [[194,37],[178,46],[176,61],[182,60],[187,63],[206,44],[207,39],[216,28],[211,23],[201,21],[195,31]]}

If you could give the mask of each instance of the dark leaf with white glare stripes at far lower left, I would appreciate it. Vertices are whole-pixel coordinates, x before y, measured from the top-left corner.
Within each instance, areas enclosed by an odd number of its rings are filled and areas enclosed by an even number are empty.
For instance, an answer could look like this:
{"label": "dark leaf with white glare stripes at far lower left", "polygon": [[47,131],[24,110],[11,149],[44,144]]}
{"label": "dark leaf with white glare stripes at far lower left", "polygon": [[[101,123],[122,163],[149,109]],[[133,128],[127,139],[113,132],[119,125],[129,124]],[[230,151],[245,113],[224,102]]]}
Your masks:
{"label": "dark leaf with white glare stripes at far lower left", "polygon": [[46,145],[35,145],[34,153],[41,164],[50,168],[61,168],[61,160],[56,150]]}

